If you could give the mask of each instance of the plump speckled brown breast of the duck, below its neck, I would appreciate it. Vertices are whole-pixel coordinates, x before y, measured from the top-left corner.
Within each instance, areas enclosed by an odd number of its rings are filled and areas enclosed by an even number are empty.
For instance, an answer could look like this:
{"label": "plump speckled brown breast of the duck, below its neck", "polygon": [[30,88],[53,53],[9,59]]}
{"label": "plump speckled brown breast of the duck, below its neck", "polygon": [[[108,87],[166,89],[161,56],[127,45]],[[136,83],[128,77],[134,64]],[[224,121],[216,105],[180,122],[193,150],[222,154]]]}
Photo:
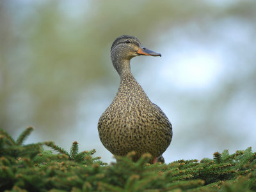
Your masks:
{"label": "plump speckled brown breast of the duck, below its neck", "polygon": [[172,140],[172,124],[161,109],[136,99],[132,103],[114,100],[100,117],[98,130],[102,144],[112,154],[136,151],[135,159],[145,152],[160,156]]}

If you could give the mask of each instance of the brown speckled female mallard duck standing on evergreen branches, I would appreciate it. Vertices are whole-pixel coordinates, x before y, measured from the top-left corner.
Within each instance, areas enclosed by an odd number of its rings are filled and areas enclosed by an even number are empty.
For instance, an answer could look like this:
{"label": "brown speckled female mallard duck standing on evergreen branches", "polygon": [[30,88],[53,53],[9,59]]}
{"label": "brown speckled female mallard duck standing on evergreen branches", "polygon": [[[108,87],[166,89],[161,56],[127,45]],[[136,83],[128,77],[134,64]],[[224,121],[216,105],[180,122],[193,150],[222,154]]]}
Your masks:
{"label": "brown speckled female mallard duck standing on evergreen branches", "polygon": [[156,163],[172,141],[172,124],[132,76],[130,60],[139,55],[161,57],[134,36],[123,35],[114,41],[111,60],[121,82],[115,99],[99,119],[98,131],[100,141],[112,154],[124,156],[135,151],[136,161],[149,152]]}

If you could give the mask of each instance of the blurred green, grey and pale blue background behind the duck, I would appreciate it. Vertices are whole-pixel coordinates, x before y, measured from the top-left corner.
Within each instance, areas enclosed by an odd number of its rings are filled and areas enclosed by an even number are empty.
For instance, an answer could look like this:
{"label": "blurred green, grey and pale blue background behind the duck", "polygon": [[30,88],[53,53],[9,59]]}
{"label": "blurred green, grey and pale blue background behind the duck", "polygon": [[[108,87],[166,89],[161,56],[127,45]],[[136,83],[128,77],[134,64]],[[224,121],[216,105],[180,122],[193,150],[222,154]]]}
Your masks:
{"label": "blurred green, grey and pale blue background behind the duck", "polygon": [[255,151],[254,0],[1,1],[0,127],[115,161],[97,122],[118,89],[110,47],[122,34],[163,55],[131,68],[173,124],[167,163]]}

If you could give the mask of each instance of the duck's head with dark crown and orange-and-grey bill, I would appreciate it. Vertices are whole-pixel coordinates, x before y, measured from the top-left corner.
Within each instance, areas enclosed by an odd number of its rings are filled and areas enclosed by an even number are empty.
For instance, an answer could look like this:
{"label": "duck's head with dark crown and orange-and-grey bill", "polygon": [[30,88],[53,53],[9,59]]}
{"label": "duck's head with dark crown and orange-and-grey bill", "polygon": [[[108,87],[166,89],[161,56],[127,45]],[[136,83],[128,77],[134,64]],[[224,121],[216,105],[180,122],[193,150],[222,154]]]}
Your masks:
{"label": "duck's head with dark crown and orange-and-grey bill", "polygon": [[139,55],[160,56],[161,54],[143,47],[134,36],[123,35],[113,42],[111,47],[111,60],[119,75],[130,69],[130,60]]}

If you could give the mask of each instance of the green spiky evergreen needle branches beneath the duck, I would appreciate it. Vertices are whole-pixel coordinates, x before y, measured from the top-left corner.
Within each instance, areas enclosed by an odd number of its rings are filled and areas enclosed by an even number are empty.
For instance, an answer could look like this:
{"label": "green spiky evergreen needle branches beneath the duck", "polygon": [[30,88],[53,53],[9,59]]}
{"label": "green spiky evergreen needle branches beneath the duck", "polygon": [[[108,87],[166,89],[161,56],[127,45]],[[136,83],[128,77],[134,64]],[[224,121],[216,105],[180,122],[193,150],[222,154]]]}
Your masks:
{"label": "green spiky evergreen needle branches beneath the duck", "polygon": [[[132,161],[134,152],[116,156],[107,165],[92,151],[70,152],[53,142],[24,145],[33,131],[14,140],[0,130],[0,191],[255,191],[256,153],[252,147],[229,154],[214,152],[213,159],[179,160],[168,165],[148,164],[150,154]],[[46,151],[51,147],[58,154]]]}

